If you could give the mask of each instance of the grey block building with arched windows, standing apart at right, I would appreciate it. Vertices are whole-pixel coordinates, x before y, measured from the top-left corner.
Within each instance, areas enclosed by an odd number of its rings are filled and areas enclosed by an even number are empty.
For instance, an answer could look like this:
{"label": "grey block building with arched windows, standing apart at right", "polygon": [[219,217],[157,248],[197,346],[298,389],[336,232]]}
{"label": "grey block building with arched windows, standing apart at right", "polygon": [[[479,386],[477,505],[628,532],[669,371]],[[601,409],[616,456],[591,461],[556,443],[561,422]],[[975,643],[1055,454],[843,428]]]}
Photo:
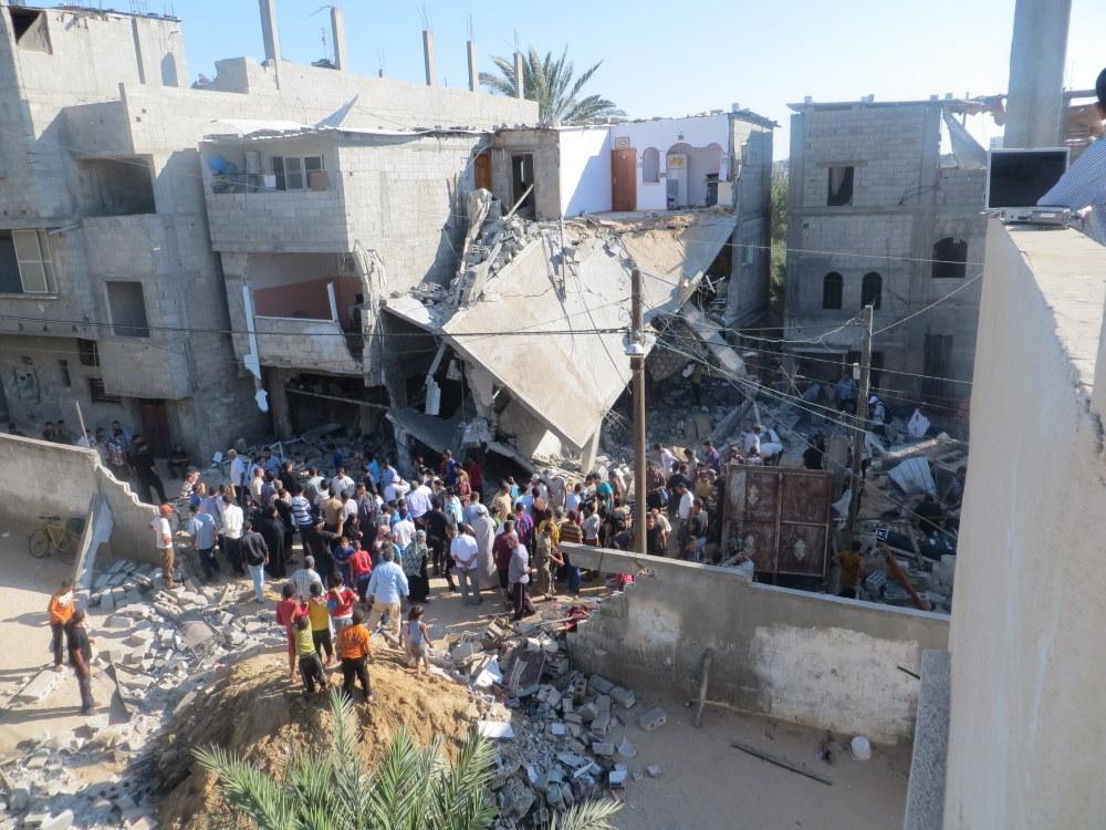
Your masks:
{"label": "grey block building with arched windows, standing apart at right", "polygon": [[980,284],[964,283],[982,269],[987,153],[962,116],[992,105],[791,105],[784,336],[801,376],[851,371],[870,303],[873,383],[887,405],[956,412],[967,401],[970,385],[956,381],[971,378],[975,354]]}

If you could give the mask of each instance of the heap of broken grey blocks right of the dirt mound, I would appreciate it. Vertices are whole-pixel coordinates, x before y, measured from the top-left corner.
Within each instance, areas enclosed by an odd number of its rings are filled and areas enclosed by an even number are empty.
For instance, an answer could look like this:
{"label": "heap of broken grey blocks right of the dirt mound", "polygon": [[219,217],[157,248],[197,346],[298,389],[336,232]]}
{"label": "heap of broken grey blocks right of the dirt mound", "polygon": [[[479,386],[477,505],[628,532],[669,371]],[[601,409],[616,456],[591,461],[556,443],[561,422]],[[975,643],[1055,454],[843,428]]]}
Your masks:
{"label": "heap of broken grey blocks right of the dirt mound", "polygon": [[495,621],[434,658],[470,685],[488,718],[478,728],[497,739],[494,830],[544,827],[578,801],[616,796],[629,780],[661,775],[659,766],[637,759],[626,727],[638,723],[651,732],[664,725],[665,713],[639,713],[634,692],[571,667],[565,631],[586,615],[586,609],[561,603],[536,622],[512,627]]}

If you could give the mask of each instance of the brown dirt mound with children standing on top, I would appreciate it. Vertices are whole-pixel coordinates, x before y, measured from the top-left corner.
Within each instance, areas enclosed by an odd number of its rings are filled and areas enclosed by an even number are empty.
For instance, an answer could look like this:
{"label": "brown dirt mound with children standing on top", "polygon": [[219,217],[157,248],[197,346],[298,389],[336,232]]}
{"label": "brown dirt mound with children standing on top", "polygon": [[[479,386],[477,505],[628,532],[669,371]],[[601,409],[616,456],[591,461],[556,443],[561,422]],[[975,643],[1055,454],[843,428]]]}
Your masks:
{"label": "brown dirt mound with children standing on top", "polygon": [[[342,673],[330,674],[341,684]],[[445,739],[452,756],[479,718],[469,691],[442,677],[414,677],[397,657],[377,652],[369,666],[373,704],[355,693],[362,750],[375,760],[399,726],[419,744]],[[206,692],[176,714],[156,750],[156,769],[164,797],[161,827],[228,827],[232,822],[216,787],[215,776],[192,758],[197,747],[220,746],[279,771],[292,751],[327,739],[331,713],[325,697],[305,699],[302,686],[290,686],[284,654],[241,661],[226,670]]]}

